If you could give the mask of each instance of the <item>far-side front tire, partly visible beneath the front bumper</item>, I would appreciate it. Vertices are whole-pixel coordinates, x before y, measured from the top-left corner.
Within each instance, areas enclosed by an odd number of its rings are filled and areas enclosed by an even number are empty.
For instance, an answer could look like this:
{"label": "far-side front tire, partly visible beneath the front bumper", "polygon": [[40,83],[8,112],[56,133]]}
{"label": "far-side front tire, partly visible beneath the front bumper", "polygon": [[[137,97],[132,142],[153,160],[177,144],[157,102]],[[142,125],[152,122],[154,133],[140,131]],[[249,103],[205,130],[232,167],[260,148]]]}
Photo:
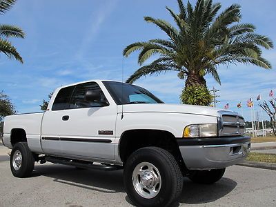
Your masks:
{"label": "far-side front tire, partly visible beneath the front bumper", "polygon": [[214,184],[224,175],[225,168],[214,170],[195,170],[189,176],[197,184]]}

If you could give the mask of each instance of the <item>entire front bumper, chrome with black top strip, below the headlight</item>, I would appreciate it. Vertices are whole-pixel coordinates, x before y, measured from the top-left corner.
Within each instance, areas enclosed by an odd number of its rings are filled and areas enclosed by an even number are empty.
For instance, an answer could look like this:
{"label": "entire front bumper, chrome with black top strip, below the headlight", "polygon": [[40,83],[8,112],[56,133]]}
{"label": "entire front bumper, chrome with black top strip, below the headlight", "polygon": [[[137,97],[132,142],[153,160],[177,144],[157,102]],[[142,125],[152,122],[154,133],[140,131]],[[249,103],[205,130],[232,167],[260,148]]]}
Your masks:
{"label": "entire front bumper, chrome with black top strip, below the headlight", "polygon": [[250,152],[250,137],[177,139],[189,170],[226,168],[244,160]]}

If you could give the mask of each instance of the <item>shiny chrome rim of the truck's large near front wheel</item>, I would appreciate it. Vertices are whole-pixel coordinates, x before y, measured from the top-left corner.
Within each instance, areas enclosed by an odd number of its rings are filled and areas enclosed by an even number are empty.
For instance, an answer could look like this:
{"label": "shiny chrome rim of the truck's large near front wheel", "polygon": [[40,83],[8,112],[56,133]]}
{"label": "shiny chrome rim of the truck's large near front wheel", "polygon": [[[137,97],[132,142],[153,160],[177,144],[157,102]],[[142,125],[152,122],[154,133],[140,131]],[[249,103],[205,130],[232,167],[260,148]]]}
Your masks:
{"label": "shiny chrome rim of the truck's large near front wheel", "polygon": [[152,199],[161,189],[159,170],[149,162],[141,162],[132,172],[132,184],[141,197]]}

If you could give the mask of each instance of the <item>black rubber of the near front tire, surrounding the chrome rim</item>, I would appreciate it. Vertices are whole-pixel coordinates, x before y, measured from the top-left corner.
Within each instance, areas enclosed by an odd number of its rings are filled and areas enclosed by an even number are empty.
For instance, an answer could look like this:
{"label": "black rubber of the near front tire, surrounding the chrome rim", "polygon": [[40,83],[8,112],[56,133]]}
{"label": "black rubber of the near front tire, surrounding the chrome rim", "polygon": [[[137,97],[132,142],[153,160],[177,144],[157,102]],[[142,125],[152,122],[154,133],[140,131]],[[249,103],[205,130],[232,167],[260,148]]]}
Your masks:
{"label": "black rubber of the near front tire, surrounding the chrome rim", "polygon": [[[159,177],[161,177],[161,184],[157,187],[159,193],[152,198],[139,195],[132,182],[132,173],[136,167],[143,165],[143,163],[152,164],[157,168]],[[157,174],[154,173],[154,175]],[[141,177],[139,184],[142,184]],[[136,206],[170,206],[181,195],[183,176],[175,157],[170,152],[157,147],[146,147],[136,150],[128,157],[124,166],[124,186],[128,197]]]}

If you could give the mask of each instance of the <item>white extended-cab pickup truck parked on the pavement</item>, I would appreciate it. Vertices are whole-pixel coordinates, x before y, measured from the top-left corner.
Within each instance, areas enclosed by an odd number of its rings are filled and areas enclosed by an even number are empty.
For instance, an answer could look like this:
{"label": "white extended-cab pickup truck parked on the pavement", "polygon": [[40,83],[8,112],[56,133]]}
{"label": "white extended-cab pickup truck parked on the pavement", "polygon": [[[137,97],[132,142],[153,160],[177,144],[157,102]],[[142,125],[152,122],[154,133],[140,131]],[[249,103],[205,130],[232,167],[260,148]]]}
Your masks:
{"label": "white extended-cab pickup truck parked on the pavement", "polygon": [[183,177],[213,184],[250,150],[244,118],[230,110],[165,104],[148,90],[116,81],[57,88],[46,112],[5,117],[3,144],[15,177],[34,161],[78,168],[124,168],[137,206],[170,206]]}

